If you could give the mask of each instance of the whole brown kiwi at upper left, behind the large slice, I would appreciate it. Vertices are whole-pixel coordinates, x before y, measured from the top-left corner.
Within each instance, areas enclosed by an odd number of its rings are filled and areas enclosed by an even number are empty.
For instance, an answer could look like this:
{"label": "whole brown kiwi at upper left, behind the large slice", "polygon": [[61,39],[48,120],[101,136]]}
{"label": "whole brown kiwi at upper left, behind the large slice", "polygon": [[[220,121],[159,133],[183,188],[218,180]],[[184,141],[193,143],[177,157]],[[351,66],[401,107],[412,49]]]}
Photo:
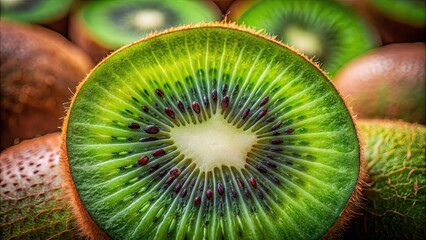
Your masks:
{"label": "whole brown kiwi at upper left, behind the large slice", "polygon": [[58,33],[0,21],[1,149],[57,131],[92,61]]}

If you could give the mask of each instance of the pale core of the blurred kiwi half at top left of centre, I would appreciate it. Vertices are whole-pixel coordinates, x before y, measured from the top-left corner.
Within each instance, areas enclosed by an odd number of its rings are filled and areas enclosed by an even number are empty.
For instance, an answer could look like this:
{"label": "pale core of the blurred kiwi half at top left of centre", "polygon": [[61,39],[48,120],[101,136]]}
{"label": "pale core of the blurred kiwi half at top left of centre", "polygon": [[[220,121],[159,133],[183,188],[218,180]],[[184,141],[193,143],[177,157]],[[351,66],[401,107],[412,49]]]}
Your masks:
{"label": "pale core of the blurred kiwi half at top left of centre", "polygon": [[141,10],[134,16],[133,23],[140,29],[160,28],[165,24],[164,14],[157,10]]}

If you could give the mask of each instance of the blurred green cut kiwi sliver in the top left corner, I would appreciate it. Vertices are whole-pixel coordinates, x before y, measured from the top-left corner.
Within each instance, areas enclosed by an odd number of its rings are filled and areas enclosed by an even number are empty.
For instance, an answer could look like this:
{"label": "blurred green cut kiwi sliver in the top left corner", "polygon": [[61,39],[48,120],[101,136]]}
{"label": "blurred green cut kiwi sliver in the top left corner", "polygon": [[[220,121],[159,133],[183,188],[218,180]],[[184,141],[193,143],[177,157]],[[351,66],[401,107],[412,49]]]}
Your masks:
{"label": "blurred green cut kiwi sliver in the top left corner", "polygon": [[33,22],[50,23],[68,13],[72,0],[0,0],[1,18]]}

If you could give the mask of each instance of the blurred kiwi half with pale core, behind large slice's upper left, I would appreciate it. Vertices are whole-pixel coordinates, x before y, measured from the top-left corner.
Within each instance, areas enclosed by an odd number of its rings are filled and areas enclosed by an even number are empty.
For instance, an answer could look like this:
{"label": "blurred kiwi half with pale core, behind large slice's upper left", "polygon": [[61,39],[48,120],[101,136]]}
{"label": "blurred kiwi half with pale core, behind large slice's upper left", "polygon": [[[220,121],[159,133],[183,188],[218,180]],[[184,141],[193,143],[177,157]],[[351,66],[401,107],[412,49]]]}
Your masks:
{"label": "blurred kiwi half with pale core, behind large slice's upper left", "polygon": [[93,1],[73,18],[71,38],[99,61],[150,32],[220,18],[218,7],[207,1]]}

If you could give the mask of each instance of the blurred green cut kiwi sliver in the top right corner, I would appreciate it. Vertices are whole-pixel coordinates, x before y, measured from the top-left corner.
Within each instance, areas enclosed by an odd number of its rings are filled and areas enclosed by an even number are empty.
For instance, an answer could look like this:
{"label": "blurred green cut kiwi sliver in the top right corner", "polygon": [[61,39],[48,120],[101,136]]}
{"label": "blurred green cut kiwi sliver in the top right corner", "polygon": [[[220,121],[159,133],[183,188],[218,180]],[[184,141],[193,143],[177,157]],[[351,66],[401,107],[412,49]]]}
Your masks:
{"label": "blurred green cut kiwi sliver in the top right corner", "polygon": [[396,21],[425,26],[426,2],[423,0],[368,0],[368,2]]}

